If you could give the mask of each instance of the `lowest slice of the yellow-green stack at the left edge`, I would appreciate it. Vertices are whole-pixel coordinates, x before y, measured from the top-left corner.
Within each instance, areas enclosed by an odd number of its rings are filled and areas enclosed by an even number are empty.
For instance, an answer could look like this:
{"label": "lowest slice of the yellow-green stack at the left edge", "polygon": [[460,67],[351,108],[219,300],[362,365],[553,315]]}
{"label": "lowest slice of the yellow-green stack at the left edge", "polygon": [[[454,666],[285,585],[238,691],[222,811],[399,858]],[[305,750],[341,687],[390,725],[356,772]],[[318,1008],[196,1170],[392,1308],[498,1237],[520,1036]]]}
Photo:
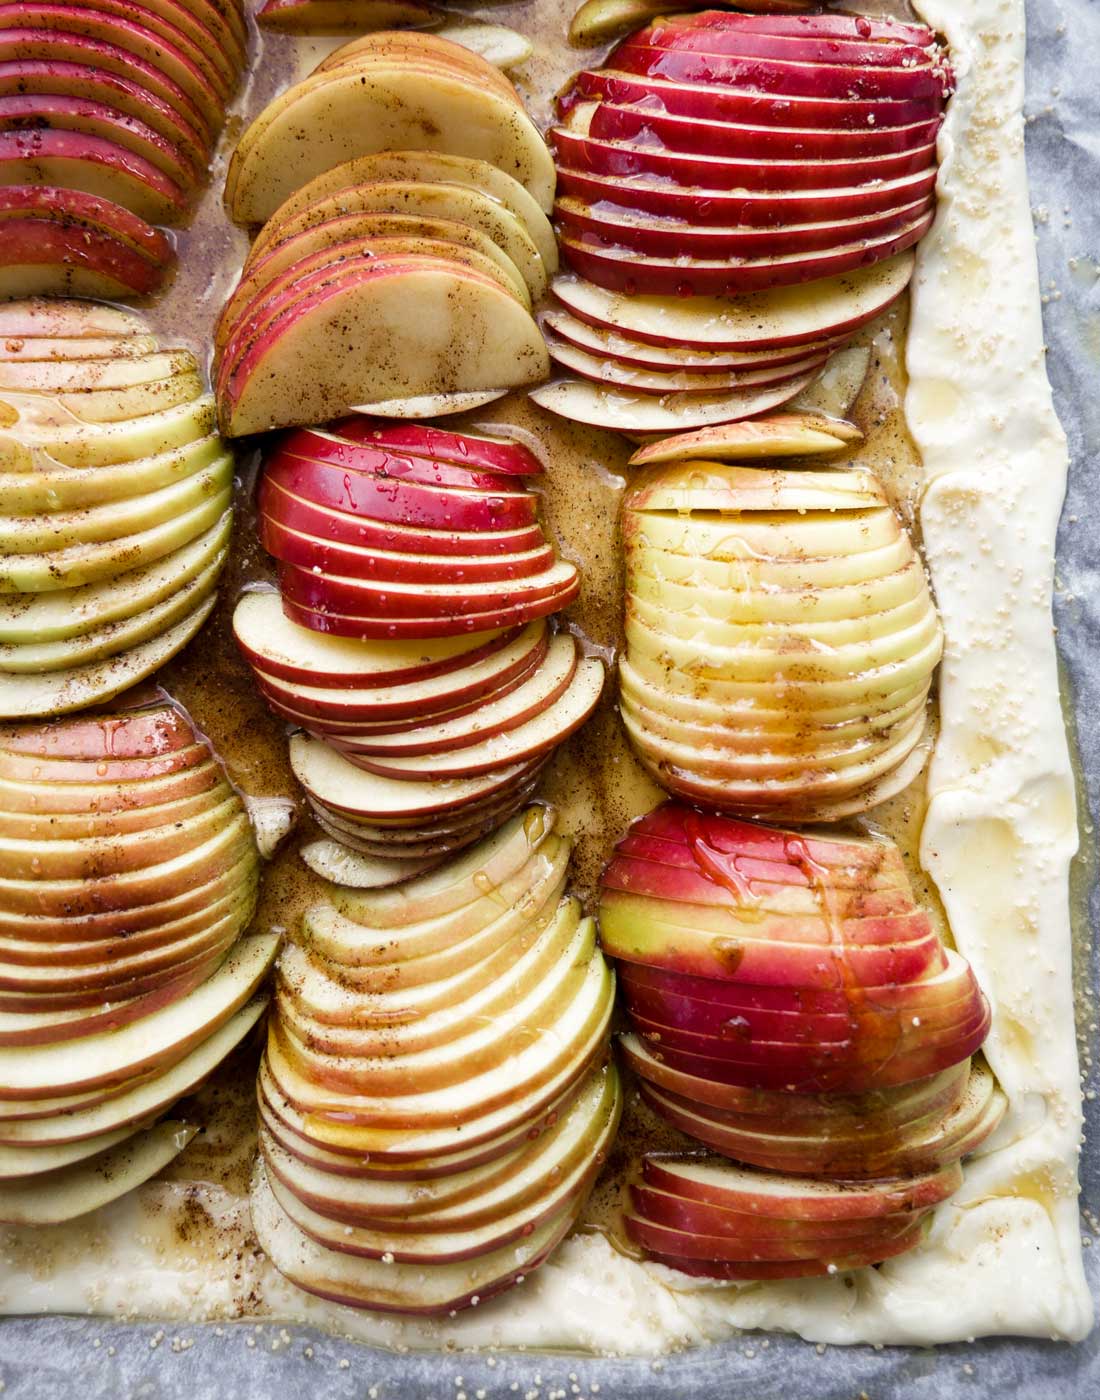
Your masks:
{"label": "lowest slice of the yellow-green stack at the left edge", "polygon": [[182,651],[214,610],[216,601],[217,595],[211,594],[175,627],[122,657],[50,675],[15,676],[0,672],[0,717],[24,720],[45,714],[71,714],[122,694]]}

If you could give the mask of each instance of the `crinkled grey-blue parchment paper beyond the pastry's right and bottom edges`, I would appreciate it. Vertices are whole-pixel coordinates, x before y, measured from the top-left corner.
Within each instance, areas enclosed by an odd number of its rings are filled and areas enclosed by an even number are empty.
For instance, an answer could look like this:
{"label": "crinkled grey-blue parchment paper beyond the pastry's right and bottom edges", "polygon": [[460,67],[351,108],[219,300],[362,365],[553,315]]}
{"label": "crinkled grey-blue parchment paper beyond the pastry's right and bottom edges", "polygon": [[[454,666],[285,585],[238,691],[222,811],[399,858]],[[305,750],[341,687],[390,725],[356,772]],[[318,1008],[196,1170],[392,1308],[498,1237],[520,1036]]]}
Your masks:
{"label": "crinkled grey-blue parchment paper beyond the pastry's right and bottom edges", "polygon": [[[537,3],[537,0],[535,0]],[[1080,756],[1075,868],[1086,1148],[1082,1236],[1100,1299],[1100,0],[1029,0],[1027,157],[1055,403],[1071,445],[1055,617]],[[1093,1095],[1089,1098],[1089,1095]],[[1027,1288],[1026,1277],[1019,1280]],[[0,1322],[1,1400],[1092,1400],[1100,1330],[1078,1345],[820,1347],[745,1334],[663,1359],[383,1352],[278,1323]]]}

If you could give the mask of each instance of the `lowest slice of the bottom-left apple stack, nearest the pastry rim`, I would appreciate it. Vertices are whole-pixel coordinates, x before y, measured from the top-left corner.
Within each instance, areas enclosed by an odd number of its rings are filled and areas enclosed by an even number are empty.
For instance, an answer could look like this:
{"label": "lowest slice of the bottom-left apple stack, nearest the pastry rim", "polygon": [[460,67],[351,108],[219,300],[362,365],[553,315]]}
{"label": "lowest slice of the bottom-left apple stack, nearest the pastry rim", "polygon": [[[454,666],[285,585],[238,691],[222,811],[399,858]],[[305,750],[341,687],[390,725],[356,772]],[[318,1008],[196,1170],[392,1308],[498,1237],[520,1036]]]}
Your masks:
{"label": "lowest slice of the bottom-left apple stack, nearest the pastry rim", "polygon": [[62,1225],[118,1200],[179,1156],[199,1130],[158,1123],[84,1162],[22,1182],[0,1183],[6,1225]]}

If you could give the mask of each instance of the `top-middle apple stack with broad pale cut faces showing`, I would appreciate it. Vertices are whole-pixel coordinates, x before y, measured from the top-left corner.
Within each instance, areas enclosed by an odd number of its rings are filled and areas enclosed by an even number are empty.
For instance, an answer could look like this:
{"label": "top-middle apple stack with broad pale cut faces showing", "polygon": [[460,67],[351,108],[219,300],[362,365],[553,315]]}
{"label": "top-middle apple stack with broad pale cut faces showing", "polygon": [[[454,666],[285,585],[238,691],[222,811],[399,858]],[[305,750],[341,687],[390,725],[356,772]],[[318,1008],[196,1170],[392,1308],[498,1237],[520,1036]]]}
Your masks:
{"label": "top-middle apple stack with broad pale cut faces showing", "polygon": [[546,378],[532,298],[553,270],[537,230],[553,193],[546,144],[491,63],[418,32],[337,49],[256,118],[230,165],[231,217],[272,227],[218,328],[225,430],[361,405],[459,412]]}

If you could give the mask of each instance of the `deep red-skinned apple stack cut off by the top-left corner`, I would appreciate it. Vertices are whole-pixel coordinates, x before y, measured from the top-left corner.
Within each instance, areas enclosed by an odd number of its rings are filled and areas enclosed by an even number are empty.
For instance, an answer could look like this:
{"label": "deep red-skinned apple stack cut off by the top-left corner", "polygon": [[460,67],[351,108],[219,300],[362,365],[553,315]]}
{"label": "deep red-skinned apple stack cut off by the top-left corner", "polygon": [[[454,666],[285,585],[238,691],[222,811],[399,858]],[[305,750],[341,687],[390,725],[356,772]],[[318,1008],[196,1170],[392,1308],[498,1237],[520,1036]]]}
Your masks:
{"label": "deep red-skinned apple stack cut off by the top-left corner", "polygon": [[174,262],[245,64],[238,0],[7,4],[0,294],[134,297]]}

